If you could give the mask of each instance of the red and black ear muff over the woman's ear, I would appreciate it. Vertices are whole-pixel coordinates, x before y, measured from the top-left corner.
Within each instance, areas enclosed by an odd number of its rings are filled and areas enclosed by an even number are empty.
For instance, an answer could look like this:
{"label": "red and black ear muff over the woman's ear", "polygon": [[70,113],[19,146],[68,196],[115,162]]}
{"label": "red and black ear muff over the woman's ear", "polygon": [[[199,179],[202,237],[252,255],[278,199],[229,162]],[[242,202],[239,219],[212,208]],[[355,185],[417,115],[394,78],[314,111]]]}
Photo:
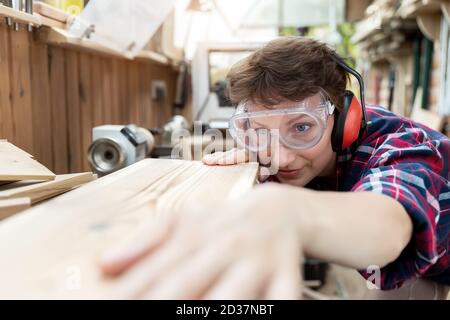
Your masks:
{"label": "red and black ear muff over the woman's ear", "polygon": [[332,146],[335,152],[348,148],[358,139],[363,118],[361,103],[353,92],[345,91],[343,110],[335,114]]}

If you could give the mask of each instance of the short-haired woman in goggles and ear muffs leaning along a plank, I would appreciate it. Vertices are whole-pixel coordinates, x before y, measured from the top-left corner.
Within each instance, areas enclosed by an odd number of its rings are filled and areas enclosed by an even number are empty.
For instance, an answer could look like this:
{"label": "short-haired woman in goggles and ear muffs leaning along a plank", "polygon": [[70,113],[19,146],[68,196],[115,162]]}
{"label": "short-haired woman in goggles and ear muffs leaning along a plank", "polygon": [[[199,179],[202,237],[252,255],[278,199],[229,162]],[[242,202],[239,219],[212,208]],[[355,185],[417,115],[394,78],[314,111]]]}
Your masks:
{"label": "short-haired woman in goggles and ear muffs leaning along a plank", "polygon": [[112,250],[104,272],[131,269],[139,279],[131,292],[150,298],[296,298],[304,254],[358,269],[397,297],[445,298],[449,139],[365,107],[346,91],[349,73],[358,75],[301,37],[274,40],[234,66],[230,131],[242,148],[203,161],[256,159],[268,183],[207,219],[186,213]]}

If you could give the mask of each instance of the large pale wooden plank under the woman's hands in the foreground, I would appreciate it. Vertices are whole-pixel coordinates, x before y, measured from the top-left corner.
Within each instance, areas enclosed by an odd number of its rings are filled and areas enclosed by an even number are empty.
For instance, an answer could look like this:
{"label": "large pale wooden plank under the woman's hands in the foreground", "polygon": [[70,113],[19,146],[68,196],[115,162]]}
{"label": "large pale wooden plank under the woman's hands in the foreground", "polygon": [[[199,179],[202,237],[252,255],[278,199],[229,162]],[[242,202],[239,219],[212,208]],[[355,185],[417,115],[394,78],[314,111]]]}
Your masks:
{"label": "large pale wooden plank under the woman's hands in the foreground", "polygon": [[146,159],[16,215],[0,224],[0,299],[107,297],[116,283],[97,265],[105,249],[161,216],[242,196],[256,173],[255,163]]}

